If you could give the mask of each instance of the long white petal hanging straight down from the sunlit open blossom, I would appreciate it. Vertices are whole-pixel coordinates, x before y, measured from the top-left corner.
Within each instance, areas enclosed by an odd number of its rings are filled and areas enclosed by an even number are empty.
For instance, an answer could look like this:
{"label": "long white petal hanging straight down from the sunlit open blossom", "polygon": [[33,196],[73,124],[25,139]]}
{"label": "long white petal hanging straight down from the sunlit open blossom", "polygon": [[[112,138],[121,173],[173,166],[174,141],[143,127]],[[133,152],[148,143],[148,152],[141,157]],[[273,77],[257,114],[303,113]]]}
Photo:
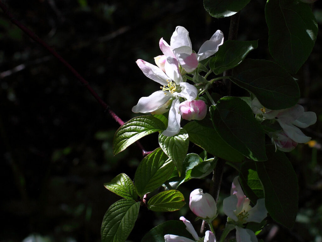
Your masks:
{"label": "long white petal hanging straight down from the sunlit open blossom", "polygon": [[179,105],[179,99],[174,100],[171,104],[171,108],[169,110],[168,127],[162,132],[164,136],[171,137],[180,131],[181,115],[179,112]]}

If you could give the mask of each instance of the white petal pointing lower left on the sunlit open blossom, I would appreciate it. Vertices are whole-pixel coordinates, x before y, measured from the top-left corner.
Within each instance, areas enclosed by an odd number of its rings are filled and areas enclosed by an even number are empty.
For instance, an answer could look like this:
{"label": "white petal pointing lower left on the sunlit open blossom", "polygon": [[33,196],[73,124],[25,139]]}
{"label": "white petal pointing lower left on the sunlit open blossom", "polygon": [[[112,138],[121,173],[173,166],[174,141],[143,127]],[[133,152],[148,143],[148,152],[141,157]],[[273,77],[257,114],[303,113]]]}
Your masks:
{"label": "white petal pointing lower left on the sunlit open blossom", "polygon": [[[166,93],[166,94],[165,94]],[[153,92],[148,97],[141,97],[139,101],[137,102],[137,105],[135,105],[132,108],[132,112],[138,113],[148,113],[153,112],[162,107],[163,104],[165,104],[173,95],[169,92],[164,91],[157,91]]]}

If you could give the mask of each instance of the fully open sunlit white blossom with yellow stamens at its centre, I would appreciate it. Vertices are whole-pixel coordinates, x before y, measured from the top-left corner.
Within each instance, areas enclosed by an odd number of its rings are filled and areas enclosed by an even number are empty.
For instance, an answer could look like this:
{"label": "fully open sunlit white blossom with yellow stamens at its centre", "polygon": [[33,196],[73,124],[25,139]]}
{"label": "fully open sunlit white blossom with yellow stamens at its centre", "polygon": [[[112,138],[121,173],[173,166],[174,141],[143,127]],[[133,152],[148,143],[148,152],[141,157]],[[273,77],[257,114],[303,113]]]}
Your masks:
{"label": "fully open sunlit white blossom with yellow stamens at its centre", "polygon": [[[162,111],[169,110],[168,127],[162,134],[165,136],[173,136],[179,133],[181,121],[179,97],[192,101],[197,97],[197,89],[194,85],[183,82],[179,72],[178,62],[172,56],[166,58],[164,65],[165,72],[159,67],[140,59],[136,63],[148,78],[162,85],[162,90],[153,92],[148,97],[141,97],[137,105],[132,108],[132,111],[136,113],[149,113],[159,109]],[[165,105],[170,105],[170,100],[172,100],[172,104],[168,109]]]}

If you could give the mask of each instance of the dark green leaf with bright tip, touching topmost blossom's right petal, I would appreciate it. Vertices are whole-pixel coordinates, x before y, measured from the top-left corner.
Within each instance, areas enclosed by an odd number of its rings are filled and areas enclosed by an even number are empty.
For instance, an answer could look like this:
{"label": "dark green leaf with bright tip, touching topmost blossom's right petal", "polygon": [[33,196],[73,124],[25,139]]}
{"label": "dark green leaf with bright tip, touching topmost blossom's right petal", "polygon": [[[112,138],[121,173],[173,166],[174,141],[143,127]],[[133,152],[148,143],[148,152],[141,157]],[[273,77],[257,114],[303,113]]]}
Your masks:
{"label": "dark green leaf with bright tip, touching topmost blossom's right petal", "polygon": [[227,40],[219,47],[216,56],[212,57],[209,67],[216,75],[239,65],[246,55],[256,49],[258,41]]}

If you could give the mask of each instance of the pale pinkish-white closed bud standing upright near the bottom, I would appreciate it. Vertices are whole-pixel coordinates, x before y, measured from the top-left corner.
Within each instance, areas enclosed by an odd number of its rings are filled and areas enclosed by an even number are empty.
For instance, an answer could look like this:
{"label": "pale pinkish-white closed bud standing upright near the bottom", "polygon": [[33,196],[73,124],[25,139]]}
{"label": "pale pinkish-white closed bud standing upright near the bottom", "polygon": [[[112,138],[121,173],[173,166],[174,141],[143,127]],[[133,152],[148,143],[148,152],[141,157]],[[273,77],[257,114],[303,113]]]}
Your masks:
{"label": "pale pinkish-white closed bud standing upright near the bottom", "polygon": [[214,219],[217,215],[215,200],[209,193],[203,193],[202,189],[195,189],[190,193],[189,207],[200,218]]}

